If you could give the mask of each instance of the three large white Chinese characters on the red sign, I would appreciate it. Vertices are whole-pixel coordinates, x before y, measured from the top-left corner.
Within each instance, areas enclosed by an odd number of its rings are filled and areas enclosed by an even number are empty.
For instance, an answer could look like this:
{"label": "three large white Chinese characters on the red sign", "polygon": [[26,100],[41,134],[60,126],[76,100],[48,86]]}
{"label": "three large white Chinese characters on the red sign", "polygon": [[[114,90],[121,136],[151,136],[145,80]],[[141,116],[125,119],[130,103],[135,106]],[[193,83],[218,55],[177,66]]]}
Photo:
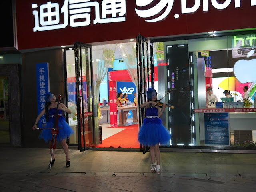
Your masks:
{"label": "three large white Chinese characters on the red sign", "polygon": [[[95,8],[93,24],[125,21],[125,0],[103,0],[101,3],[102,18],[100,18],[100,4],[97,1],[65,0],[61,9],[58,3],[48,1],[47,4],[40,5],[39,12],[38,10],[33,10],[35,18],[33,31],[66,28],[68,26],[68,20],[71,27],[88,26],[91,23],[90,14],[92,7]],[[32,8],[36,9],[38,5],[32,4]],[[70,14],[70,18],[68,18],[68,14]],[[60,16],[64,19],[62,24],[60,22]],[[111,16],[111,18],[107,18],[107,16]]]}

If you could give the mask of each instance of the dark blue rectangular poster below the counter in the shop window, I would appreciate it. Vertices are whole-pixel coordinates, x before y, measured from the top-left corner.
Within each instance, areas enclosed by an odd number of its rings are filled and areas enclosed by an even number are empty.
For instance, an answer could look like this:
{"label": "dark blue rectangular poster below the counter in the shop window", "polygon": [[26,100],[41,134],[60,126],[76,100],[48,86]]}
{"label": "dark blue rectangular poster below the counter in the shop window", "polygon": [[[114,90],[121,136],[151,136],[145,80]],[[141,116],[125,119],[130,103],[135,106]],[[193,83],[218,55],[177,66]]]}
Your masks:
{"label": "dark blue rectangular poster below the counter in the shop window", "polygon": [[205,113],[205,145],[229,146],[228,113]]}

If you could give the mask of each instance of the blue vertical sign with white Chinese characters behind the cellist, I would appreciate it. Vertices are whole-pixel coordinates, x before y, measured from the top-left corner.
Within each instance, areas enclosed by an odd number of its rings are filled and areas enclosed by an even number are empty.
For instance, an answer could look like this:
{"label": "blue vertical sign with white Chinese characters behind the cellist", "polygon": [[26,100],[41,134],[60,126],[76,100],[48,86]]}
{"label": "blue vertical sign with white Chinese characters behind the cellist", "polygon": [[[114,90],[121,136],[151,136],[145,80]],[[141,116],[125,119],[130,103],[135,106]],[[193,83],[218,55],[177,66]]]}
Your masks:
{"label": "blue vertical sign with white Chinese characters behind the cellist", "polygon": [[[50,91],[49,86],[49,64],[37,63],[36,64],[36,93],[37,93],[37,114],[45,108],[45,94]],[[38,127],[45,126],[45,114],[38,122]]]}

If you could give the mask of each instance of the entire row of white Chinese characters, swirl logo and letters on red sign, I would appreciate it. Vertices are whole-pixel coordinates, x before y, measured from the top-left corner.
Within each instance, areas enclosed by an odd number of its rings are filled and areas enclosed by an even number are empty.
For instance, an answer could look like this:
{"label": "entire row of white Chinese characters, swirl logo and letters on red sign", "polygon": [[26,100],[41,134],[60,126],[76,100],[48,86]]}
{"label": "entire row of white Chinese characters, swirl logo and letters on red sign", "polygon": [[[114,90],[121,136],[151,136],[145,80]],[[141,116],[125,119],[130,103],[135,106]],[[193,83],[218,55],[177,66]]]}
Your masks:
{"label": "entire row of white Chinese characters, swirl logo and letters on red sign", "polygon": [[[235,8],[241,6],[241,0],[233,0]],[[249,1],[249,0],[248,0]],[[251,6],[256,5],[256,0],[250,0]],[[154,0],[136,0],[134,8],[136,14],[146,19],[146,22],[158,22],[169,16],[172,11],[174,0],[155,0],[155,6],[150,6]],[[181,0],[181,14],[196,12],[200,6],[203,11],[209,10],[209,4],[216,9],[223,10],[231,4],[231,0],[219,3],[218,0],[195,0],[193,6],[187,6],[188,0]],[[202,4],[201,4],[202,2]],[[33,31],[47,31],[70,27],[89,26],[94,24],[107,24],[125,22],[126,3],[128,0],[64,0],[63,4],[48,1],[46,4],[32,4],[35,26]],[[145,8],[147,6],[147,8]],[[91,10],[95,10],[92,12]],[[173,13],[174,18],[180,17],[179,13]],[[154,16],[156,18],[154,18]],[[152,18],[153,17],[153,18]],[[64,20],[61,22],[61,18]],[[112,58],[111,58],[112,59]]]}

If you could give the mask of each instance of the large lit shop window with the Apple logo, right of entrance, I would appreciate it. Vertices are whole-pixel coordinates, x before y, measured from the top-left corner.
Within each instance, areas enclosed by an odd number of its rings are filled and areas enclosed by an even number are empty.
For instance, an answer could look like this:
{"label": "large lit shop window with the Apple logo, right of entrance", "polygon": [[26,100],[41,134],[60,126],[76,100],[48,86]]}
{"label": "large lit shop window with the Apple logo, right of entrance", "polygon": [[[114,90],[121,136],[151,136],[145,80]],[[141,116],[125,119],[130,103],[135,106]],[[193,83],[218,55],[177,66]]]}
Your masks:
{"label": "large lit shop window with the Apple logo, right of entrance", "polygon": [[[228,109],[227,114],[230,120],[228,124],[229,135],[227,136],[224,131],[221,131],[223,127],[220,124],[223,122],[212,122],[213,125],[208,126],[207,129],[205,114],[196,114],[200,145],[208,145],[210,142],[206,140],[209,138],[222,140],[224,137],[229,137],[228,146],[249,146],[248,142],[251,146],[255,146],[255,37],[255,34],[250,34],[189,40],[189,49],[196,55],[197,80],[195,83],[198,86],[198,105],[196,107],[209,109],[208,112],[214,113],[226,112]],[[244,109],[246,105],[242,102],[245,86],[248,87],[250,100],[248,106],[250,109]],[[210,93],[216,95],[216,98],[210,98],[210,104],[207,88],[212,88]],[[224,92],[228,92],[229,96],[227,97]],[[212,132],[209,131],[210,129]],[[206,134],[210,134],[212,137]],[[209,145],[216,146],[214,141]],[[222,144],[218,145],[221,146]],[[226,144],[223,145],[226,146]]]}

